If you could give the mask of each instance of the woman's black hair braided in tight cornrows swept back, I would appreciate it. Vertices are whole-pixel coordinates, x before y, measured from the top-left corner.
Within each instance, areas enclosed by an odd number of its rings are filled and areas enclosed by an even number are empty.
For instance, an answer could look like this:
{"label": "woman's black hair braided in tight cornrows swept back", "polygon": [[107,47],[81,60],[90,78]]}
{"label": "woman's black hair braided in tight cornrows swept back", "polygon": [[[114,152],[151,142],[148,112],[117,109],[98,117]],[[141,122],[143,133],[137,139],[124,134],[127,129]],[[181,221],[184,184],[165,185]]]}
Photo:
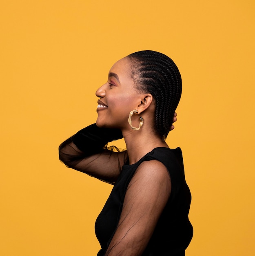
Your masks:
{"label": "woman's black hair braided in tight cornrows swept back", "polygon": [[137,89],[155,99],[155,130],[166,139],[182,94],[180,72],[171,58],[160,52],[146,50],[127,57]]}

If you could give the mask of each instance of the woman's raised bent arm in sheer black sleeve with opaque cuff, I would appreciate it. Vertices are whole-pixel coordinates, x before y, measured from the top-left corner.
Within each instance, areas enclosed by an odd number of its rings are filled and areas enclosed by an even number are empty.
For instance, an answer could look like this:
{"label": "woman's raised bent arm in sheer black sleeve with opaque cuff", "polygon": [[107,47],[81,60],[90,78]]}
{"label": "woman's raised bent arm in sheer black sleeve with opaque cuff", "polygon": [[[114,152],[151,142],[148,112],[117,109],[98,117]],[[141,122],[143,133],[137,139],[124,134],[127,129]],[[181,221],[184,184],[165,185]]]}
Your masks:
{"label": "woman's raised bent arm in sheer black sleeve with opaque cuff", "polygon": [[59,158],[75,170],[114,183],[120,173],[127,153],[112,152],[105,145],[122,138],[117,129],[98,128],[95,124],[80,130],[59,146]]}

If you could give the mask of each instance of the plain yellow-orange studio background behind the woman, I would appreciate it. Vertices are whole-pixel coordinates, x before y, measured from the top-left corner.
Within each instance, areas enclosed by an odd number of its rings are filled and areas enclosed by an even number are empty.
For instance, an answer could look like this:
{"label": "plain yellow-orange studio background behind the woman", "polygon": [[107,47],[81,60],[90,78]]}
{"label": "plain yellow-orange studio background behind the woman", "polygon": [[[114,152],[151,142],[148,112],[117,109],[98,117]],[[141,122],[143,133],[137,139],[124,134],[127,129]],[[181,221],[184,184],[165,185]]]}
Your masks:
{"label": "plain yellow-orange studio background behind the woman", "polygon": [[0,255],[96,255],[111,185],[66,168],[58,145],[95,122],[111,65],[153,49],[183,79],[167,142],[193,196],[186,255],[254,256],[254,13],[254,0],[1,1]]}

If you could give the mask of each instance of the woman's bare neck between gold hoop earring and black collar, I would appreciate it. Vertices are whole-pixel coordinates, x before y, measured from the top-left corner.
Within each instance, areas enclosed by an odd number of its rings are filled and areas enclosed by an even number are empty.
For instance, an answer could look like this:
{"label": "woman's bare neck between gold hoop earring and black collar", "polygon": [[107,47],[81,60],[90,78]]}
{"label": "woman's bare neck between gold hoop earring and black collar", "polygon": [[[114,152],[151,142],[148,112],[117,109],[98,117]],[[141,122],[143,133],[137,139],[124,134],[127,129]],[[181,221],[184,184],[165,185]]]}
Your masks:
{"label": "woman's bare neck between gold hoop earring and black collar", "polygon": [[166,142],[146,126],[142,126],[138,131],[132,130],[131,128],[122,130],[122,134],[126,142],[130,164],[136,163],[144,155],[151,152],[153,148],[168,148]]}

